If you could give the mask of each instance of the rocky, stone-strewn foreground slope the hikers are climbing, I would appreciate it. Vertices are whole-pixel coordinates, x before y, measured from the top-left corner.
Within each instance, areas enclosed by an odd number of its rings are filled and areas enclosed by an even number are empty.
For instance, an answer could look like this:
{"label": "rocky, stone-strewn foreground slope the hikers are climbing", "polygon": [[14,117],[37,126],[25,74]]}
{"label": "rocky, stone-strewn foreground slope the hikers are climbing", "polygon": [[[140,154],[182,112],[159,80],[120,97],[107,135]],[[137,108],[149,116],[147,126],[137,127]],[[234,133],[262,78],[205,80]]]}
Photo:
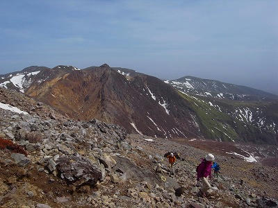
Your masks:
{"label": "rocky, stone-strewn foreground slope the hikers are climbing", "polygon": [[[120,126],[95,119],[72,121],[14,92],[3,92],[0,102],[28,113],[0,109],[1,207],[278,205],[275,167],[215,155],[220,178],[211,180],[210,196],[199,198],[195,168],[204,150],[126,135]],[[163,158],[169,150],[181,154],[175,175]]]}

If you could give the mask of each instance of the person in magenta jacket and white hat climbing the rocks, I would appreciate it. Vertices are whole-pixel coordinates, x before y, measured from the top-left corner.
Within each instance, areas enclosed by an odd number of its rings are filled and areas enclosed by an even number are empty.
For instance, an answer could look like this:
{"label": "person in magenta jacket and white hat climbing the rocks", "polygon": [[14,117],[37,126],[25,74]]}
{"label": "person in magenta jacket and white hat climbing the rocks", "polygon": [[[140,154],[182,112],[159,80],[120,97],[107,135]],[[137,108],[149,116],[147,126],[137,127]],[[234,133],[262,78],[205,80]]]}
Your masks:
{"label": "person in magenta jacket and white hat climbing the rocks", "polygon": [[211,184],[208,182],[208,176],[211,178],[211,166],[213,164],[214,156],[209,153],[202,160],[201,164],[199,164],[196,168],[197,171],[197,181],[201,180],[202,188],[199,191],[201,196],[206,196],[206,191],[211,189]]}

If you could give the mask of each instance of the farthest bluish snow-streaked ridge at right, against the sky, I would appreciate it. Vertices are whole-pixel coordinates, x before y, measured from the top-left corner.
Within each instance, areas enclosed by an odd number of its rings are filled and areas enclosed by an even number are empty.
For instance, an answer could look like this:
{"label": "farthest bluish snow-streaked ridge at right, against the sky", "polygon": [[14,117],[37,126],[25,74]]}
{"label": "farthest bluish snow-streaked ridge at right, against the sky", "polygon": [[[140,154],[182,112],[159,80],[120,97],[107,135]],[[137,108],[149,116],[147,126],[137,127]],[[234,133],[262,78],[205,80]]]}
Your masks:
{"label": "farthest bluish snow-streaked ridge at right, against the sky", "polygon": [[218,80],[208,80],[193,76],[184,76],[177,80],[165,80],[181,92],[197,94],[209,98],[229,99],[234,101],[272,101],[278,96],[259,89],[222,83]]}

